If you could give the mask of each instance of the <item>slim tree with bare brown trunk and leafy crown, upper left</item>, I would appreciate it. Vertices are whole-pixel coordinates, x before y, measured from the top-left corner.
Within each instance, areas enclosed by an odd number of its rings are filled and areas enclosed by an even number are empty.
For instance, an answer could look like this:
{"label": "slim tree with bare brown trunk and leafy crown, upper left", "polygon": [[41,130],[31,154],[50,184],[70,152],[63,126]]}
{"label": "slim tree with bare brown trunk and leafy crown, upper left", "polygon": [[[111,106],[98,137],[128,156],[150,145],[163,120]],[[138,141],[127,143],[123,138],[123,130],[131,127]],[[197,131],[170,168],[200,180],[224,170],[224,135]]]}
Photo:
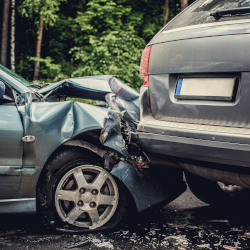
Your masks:
{"label": "slim tree with bare brown trunk and leafy crown, upper left", "polygon": [[[66,0],[24,0],[20,6],[20,11],[23,16],[35,19],[38,25],[37,45],[36,45],[36,58],[41,58],[41,46],[43,38],[43,26],[53,26],[58,18],[57,12],[60,3]],[[39,20],[36,16],[38,15]],[[39,77],[40,61],[35,61],[34,77],[33,80],[38,80]]]}

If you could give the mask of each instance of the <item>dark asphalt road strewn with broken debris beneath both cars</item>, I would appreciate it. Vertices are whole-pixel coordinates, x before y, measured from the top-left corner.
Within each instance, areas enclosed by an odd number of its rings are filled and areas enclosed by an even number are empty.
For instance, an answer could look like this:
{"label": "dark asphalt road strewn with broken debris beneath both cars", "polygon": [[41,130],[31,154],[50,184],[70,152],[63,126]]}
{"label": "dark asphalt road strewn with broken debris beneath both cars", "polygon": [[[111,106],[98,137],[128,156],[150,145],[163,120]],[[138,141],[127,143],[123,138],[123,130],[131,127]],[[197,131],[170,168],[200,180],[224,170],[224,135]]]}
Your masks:
{"label": "dark asphalt road strewn with broken debris beneath both cars", "polygon": [[131,224],[97,234],[51,235],[34,214],[0,216],[0,249],[250,249],[248,204],[213,208],[188,190]]}

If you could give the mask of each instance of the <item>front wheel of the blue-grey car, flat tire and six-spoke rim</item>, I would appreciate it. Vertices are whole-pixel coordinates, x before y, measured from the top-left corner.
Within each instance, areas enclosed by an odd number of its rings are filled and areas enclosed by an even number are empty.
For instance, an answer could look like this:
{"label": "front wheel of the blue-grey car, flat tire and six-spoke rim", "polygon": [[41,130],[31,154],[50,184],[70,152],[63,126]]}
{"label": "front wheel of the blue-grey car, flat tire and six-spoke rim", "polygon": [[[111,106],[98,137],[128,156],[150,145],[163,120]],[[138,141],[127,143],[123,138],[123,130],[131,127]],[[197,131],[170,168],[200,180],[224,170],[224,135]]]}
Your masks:
{"label": "front wheel of the blue-grey car, flat tire and six-spoke rim", "polygon": [[124,184],[103,169],[102,159],[78,147],[57,153],[37,187],[37,212],[53,231],[113,228],[128,211],[129,200]]}

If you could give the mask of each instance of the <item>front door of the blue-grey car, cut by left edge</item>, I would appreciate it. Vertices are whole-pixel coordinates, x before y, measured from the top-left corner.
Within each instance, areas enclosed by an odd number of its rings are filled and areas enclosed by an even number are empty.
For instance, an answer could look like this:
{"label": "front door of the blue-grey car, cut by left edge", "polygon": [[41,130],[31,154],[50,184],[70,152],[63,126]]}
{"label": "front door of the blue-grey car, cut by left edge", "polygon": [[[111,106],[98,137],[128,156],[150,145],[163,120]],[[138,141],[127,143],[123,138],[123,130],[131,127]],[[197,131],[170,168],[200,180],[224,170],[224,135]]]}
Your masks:
{"label": "front door of the blue-grey car, cut by left edge", "polygon": [[0,97],[0,199],[15,198],[18,192],[23,155],[23,126],[11,87],[4,84]]}

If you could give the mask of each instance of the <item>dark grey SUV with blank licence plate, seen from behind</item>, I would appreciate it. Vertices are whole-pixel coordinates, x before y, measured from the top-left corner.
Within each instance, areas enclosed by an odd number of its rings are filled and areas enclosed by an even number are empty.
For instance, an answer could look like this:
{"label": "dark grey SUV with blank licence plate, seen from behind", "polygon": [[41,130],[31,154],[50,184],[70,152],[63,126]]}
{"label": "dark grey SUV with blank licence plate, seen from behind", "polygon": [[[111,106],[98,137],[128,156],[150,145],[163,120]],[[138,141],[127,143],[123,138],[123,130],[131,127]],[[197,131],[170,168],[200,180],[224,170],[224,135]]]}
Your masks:
{"label": "dark grey SUV with blank licence plate, seen from behind", "polygon": [[213,204],[250,188],[250,1],[199,0],[143,52],[141,120],[148,153],[182,167]]}

